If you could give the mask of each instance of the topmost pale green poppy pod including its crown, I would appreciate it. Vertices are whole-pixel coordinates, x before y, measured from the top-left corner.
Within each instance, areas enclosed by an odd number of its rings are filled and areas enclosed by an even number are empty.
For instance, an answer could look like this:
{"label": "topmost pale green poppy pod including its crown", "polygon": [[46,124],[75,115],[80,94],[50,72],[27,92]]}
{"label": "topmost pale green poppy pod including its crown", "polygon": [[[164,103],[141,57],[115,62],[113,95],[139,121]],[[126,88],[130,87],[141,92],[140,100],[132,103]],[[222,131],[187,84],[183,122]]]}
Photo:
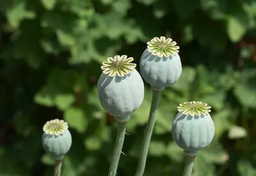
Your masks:
{"label": "topmost pale green poppy pod including its crown", "polygon": [[140,59],[140,73],[152,89],[163,90],[177,82],[182,72],[179,47],[171,38],[153,38]]}

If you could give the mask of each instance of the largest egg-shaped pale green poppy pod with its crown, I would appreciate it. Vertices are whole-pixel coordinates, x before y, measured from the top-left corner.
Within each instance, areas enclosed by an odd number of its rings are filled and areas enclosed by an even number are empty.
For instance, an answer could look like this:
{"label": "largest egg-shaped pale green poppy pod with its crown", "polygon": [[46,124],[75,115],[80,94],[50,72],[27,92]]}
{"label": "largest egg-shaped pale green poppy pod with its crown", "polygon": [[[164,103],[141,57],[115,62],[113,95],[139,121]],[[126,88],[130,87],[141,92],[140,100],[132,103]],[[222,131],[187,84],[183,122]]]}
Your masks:
{"label": "largest egg-shaped pale green poppy pod with its crown", "polygon": [[127,55],[109,57],[97,84],[102,107],[118,122],[127,122],[144,98],[143,80],[131,61]]}

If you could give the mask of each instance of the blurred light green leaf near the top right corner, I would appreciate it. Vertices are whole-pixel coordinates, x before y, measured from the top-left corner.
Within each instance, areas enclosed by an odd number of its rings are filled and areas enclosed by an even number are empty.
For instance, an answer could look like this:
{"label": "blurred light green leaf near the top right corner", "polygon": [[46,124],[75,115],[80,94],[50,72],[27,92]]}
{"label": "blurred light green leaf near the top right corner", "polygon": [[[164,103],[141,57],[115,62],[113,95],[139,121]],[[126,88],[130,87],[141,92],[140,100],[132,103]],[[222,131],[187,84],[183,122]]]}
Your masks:
{"label": "blurred light green leaf near the top right corner", "polygon": [[227,33],[230,40],[236,43],[243,38],[244,34],[246,33],[246,27],[244,27],[244,25],[239,22],[237,18],[230,17],[228,18]]}

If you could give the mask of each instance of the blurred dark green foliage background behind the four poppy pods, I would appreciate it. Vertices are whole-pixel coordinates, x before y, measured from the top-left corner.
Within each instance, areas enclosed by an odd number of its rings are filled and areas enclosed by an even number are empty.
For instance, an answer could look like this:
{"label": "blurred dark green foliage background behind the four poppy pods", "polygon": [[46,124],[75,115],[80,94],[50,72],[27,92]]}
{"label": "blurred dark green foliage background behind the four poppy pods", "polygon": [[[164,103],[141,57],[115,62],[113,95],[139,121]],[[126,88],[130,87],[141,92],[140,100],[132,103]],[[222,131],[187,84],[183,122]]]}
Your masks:
{"label": "blurred dark green foliage background behind the four poppy pods", "polygon": [[[56,118],[73,138],[61,175],[107,175],[116,128],[97,97],[100,65],[123,54],[138,64],[155,36],[177,41],[183,72],[163,91],[145,176],[182,175],[171,129],[177,105],[191,100],[212,106],[216,126],[193,176],[256,175],[255,29],[255,0],[1,0],[0,175],[53,174],[41,137]],[[145,86],[118,175],[138,164],[152,96]]]}

